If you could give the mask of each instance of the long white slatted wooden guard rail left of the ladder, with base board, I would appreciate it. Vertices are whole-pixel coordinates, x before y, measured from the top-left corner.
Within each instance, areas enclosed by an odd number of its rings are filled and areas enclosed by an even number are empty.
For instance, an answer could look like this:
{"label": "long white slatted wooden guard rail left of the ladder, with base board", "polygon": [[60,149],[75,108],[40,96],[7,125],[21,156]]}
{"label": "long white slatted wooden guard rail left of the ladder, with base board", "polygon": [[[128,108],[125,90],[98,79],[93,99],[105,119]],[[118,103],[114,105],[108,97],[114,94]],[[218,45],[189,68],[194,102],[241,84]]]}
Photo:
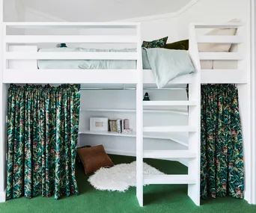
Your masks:
{"label": "long white slatted wooden guard rail left of the ladder, with base board", "polygon": [[[93,35],[12,35],[7,34],[8,29],[99,29],[112,32],[110,35],[104,35],[104,32],[98,32]],[[120,31],[133,30],[120,34]],[[118,31],[120,30],[120,31]],[[4,23],[4,83],[138,83],[138,72],[135,70],[38,70],[37,66],[31,69],[31,66],[19,66],[15,70],[8,67],[9,62],[13,61],[37,61],[37,60],[129,60],[137,61],[138,52],[31,52],[9,51],[9,46],[37,46],[44,43],[88,43],[88,44],[133,44],[135,48],[141,51],[141,38],[138,37],[140,31],[139,23],[127,22],[85,22],[85,23],[54,23],[54,22],[5,22]],[[118,33],[116,33],[118,31]],[[116,34],[115,34],[116,33]],[[35,64],[35,63],[34,63]],[[29,68],[28,68],[29,67]]]}

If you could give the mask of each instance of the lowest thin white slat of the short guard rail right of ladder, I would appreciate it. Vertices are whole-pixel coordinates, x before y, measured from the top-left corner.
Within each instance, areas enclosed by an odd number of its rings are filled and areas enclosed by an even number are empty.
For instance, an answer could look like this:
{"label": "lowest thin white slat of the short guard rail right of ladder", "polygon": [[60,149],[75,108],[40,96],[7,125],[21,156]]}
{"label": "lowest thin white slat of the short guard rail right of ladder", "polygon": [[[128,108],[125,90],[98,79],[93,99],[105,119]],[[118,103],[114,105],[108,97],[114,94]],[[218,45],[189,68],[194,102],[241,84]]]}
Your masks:
{"label": "lowest thin white slat of the short guard rail right of ladder", "polygon": [[240,52],[199,52],[200,60],[243,60]]}

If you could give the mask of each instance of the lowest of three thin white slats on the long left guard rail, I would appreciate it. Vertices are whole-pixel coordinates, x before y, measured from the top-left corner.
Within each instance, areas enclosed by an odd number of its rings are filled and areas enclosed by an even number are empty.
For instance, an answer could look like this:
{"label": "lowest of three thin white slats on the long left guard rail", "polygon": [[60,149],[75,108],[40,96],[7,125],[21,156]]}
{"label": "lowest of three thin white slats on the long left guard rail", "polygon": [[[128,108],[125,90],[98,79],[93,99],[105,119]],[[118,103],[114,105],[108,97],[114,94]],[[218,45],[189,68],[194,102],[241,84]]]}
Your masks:
{"label": "lowest of three thin white slats on the long left guard rail", "polygon": [[4,58],[38,60],[136,60],[136,52],[6,52]]}

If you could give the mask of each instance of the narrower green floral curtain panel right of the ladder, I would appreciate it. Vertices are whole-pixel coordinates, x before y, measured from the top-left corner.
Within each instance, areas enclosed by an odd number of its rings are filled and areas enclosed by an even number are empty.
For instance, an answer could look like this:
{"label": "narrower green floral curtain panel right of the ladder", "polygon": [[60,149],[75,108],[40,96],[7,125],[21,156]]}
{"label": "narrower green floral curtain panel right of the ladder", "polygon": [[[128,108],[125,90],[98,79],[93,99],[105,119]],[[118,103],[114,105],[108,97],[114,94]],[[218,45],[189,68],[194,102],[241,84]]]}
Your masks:
{"label": "narrower green floral curtain panel right of the ladder", "polygon": [[237,88],[201,86],[201,197],[243,198],[243,139]]}

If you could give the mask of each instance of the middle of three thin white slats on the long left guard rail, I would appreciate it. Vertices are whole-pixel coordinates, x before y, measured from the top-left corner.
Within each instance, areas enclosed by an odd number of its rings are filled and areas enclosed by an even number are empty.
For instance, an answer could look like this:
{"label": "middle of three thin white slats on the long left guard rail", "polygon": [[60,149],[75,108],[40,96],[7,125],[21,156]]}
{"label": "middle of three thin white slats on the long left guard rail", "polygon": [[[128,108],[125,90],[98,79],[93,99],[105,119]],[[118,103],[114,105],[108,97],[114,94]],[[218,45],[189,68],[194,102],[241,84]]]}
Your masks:
{"label": "middle of three thin white slats on the long left guard rail", "polygon": [[136,36],[125,35],[8,35],[6,43],[136,43]]}

